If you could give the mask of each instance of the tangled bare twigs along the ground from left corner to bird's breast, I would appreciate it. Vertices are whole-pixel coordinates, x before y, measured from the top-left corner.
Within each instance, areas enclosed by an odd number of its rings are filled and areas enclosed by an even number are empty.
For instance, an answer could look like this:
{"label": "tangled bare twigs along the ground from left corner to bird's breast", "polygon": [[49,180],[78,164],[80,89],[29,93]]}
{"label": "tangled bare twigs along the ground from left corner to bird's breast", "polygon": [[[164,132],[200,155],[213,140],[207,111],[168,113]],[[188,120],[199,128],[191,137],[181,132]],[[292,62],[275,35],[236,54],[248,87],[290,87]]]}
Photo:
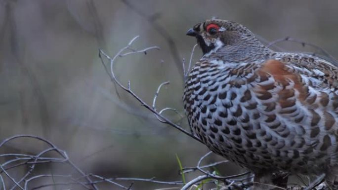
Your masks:
{"label": "tangled bare twigs along the ground from left corner to bird's breast", "polygon": [[[98,184],[106,183],[111,185],[112,187],[118,187],[124,190],[131,190],[133,184],[135,182],[148,182],[148,183],[155,183],[155,184],[163,184],[169,186],[183,186],[182,190],[185,190],[188,186],[191,185],[201,185],[201,179],[193,179],[191,182],[184,184],[182,181],[159,181],[156,180],[155,177],[153,178],[123,178],[123,177],[114,177],[114,178],[106,178],[99,175],[85,173],[82,169],[80,169],[76,164],[74,164],[68,154],[57,148],[53,143],[50,141],[43,139],[38,136],[33,135],[16,135],[10,138],[3,140],[0,143],[0,150],[8,143],[18,139],[30,139],[37,142],[42,142],[45,149],[38,152],[37,154],[34,153],[17,153],[17,152],[6,152],[0,154],[0,158],[4,161],[0,163],[0,183],[2,184],[3,190],[38,190],[46,187],[53,187],[53,186],[63,186],[69,187],[72,189],[75,186],[82,187],[86,190],[100,190],[98,188]],[[209,155],[210,153],[208,153]],[[54,156],[50,156],[54,155]],[[203,156],[205,158],[206,156]],[[201,162],[199,162],[200,164]],[[204,166],[198,165],[196,168],[207,168],[213,167],[218,164],[225,163],[225,161],[215,162],[211,164],[207,164]],[[58,174],[41,174],[40,172],[36,171],[39,168],[44,168],[45,164],[62,164],[67,166],[69,170],[63,171],[63,173]],[[27,168],[27,171],[22,176],[17,176],[17,173],[21,167]],[[189,173],[194,170],[184,169],[184,173]],[[203,179],[210,179],[212,178],[212,174],[210,172],[206,178]],[[184,175],[184,174],[183,174]],[[41,180],[43,183],[41,183]],[[48,183],[48,181],[52,181],[52,183]],[[121,182],[128,182],[128,186],[122,185],[118,183]],[[207,182],[211,183],[211,182]],[[174,187],[176,188],[176,187]],[[178,187],[177,187],[178,188]]]}

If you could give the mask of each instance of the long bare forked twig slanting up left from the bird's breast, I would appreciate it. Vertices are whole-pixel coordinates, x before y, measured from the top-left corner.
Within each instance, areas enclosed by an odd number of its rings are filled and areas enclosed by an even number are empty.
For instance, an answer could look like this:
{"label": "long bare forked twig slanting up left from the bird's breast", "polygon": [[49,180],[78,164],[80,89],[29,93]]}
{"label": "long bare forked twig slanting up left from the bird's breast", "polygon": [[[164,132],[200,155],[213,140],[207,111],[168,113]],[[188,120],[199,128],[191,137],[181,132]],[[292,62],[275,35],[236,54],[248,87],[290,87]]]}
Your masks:
{"label": "long bare forked twig slanting up left from the bird's breast", "polygon": [[183,129],[182,127],[180,127],[179,125],[173,123],[171,120],[169,120],[167,117],[163,116],[162,114],[160,114],[159,112],[157,112],[156,110],[154,110],[150,105],[148,105],[147,103],[145,103],[140,97],[138,97],[130,88],[130,81],[128,81],[128,85],[127,87],[124,86],[115,76],[114,73],[114,61],[117,59],[117,57],[123,57],[124,55],[132,55],[134,53],[145,53],[147,50],[152,50],[152,49],[159,49],[159,47],[157,46],[153,46],[153,47],[148,47],[145,48],[143,50],[139,50],[139,51],[133,51],[133,52],[128,52],[125,54],[122,54],[123,51],[125,51],[126,49],[128,49],[131,44],[138,38],[138,36],[136,36],[135,38],[132,38],[130,40],[130,42],[128,43],[128,45],[124,48],[122,48],[113,58],[110,58],[106,53],[104,53],[101,49],[99,50],[99,57],[101,59],[102,64],[105,66],[105,63],[102,59],[102,55],[104,55],[108,60],[110,60],[110,73],[111,73],[111,77],[113,78],[113,80],[125,91],[127,91],[127,93],[129,93],[130,95],[132,95],[138,102],[141,103],[142,106],[144,106],[146,109],[148,109],[149,111],[151,111],[152,113],[154,113],[155,115],[157,115],[161,120],[165,121],[167,124],[171,125],[172,127],[180,130],[181,132],[183,132],[184,134],[190,136],[191,138],[203,143],[201,141],[200,138],[198,138],[197,136],[191,134],[190,132],[186,131],[185,129]]}

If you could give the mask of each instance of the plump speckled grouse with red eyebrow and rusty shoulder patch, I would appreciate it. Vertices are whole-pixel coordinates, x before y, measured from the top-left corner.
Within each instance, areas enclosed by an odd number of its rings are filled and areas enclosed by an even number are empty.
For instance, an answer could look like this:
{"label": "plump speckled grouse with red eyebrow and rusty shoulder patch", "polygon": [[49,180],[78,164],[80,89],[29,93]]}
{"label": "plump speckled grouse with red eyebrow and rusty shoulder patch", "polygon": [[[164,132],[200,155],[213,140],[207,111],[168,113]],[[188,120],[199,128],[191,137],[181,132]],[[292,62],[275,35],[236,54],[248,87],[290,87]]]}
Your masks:
{"label": "plump speckled grouse with red eyebrow and rusty shoulder patch", "polygon": [[203,52],[184,85],[193,134],[252,171],[254,190],[270,189],[262,184],[276,184],[279,173],[324,175],[334,189],[338,67],[313,54],[274,51],[233,21],[206,20],[186,35]]}

